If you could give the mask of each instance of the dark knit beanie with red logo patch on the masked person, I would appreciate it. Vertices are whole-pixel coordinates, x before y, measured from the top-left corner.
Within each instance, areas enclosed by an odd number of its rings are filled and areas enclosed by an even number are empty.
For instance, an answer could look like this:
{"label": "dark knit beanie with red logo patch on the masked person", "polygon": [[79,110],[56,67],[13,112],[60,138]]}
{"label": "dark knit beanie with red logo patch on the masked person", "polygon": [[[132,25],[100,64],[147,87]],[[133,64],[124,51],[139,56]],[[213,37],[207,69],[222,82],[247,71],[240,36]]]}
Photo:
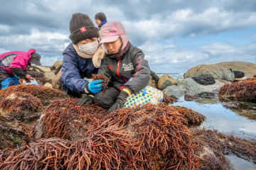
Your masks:
{"label": "dark knit beanie with red logo patch on the masked person", "polygon": [[73,13],[70,20],[70,40],[77,44],[86,38],[98,38],[99,31],[86,14]]}

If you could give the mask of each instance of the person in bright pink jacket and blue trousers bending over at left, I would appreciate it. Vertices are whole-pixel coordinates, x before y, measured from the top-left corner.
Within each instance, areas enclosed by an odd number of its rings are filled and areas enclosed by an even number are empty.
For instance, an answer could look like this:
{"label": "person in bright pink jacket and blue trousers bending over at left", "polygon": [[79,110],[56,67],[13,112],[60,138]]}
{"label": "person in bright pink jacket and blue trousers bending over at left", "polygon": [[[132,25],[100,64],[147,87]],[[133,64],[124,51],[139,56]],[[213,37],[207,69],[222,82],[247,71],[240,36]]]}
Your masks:
{"label": "person in bright pink jacket and blue trousers bending over at left", "polygon": [[27,74],[28,66],[31,64],[41,65],[41,56],[36,50],[28,52],[11,51],[0,55],[0,82],[1,89],[11,85],[18,85],[19,78],[30,80],[31,75]]}

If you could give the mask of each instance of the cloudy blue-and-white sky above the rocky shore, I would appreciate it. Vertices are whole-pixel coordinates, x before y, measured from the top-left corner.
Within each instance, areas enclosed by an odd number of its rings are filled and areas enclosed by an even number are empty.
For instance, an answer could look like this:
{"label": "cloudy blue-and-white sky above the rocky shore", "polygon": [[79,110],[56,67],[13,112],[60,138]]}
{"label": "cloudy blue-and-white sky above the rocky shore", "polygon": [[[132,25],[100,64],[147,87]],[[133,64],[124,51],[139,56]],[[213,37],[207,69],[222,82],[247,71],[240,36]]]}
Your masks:
{"label": "cloudy blue-and-white sky above the rocky shore", "polygon": [[120,21],[155,72],[198,64],[256,63],[255,0],[8,0],[0,6],[0,53],[35,48],[42,63],[62,60],[73,13]]}

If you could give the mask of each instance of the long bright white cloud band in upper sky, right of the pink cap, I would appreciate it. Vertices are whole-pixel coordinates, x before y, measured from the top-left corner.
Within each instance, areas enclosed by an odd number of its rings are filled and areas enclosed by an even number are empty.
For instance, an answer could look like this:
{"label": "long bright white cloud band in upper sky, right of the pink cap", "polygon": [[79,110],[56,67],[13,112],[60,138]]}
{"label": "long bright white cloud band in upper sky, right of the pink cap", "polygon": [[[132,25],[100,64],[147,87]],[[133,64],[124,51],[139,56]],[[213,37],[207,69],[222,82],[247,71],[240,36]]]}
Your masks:
{"label": "long bright white cloud band in upper sky, right of the pink cap", "polygon": [[164,17],[153,15],[139,21],[122,21],[132,40],[161,40],[176,35],[206,35],[225,30],[256,26],[256,12],[223,11],[218,7],[197,13],[191,8],[178,9]]}

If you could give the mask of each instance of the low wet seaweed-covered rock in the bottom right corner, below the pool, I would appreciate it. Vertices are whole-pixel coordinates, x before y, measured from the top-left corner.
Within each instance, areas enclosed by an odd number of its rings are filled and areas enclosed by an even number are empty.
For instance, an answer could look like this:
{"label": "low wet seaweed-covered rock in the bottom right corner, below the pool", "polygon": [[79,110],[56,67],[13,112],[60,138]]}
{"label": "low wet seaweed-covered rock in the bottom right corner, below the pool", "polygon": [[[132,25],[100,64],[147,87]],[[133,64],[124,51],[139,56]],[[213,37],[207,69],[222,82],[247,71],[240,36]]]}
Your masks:
{"label": "low wet seaweed-covered rock in the bottom right corner, below the pool", "polygon": [[255,141],[224,135],[216,130],[195,130],[193,137],[199,143],[196,152],[201,157],[201,169],[231,169],[225,157],[228,154],[256,163]]}

